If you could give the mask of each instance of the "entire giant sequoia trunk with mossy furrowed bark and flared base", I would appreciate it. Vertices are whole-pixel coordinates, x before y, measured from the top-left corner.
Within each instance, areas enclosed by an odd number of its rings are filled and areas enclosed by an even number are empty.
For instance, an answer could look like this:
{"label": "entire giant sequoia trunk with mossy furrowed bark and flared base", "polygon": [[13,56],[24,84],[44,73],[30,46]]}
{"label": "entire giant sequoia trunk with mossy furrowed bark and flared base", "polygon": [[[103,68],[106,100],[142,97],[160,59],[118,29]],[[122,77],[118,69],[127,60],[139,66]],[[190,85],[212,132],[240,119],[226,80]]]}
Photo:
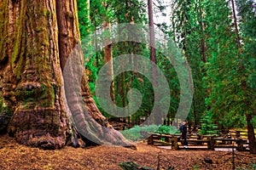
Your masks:
{"label": "entire giant sequoia trunk with mossy furrowed bark and flared base", "polygon": [[132,145],[96,108],[84,76],[82,103],[65,87],[62,72],[79,43],[76,1],[0,0],[0,17],[2,132],[21,144],[55,149],[67,144],[73,126],[88,142]]}

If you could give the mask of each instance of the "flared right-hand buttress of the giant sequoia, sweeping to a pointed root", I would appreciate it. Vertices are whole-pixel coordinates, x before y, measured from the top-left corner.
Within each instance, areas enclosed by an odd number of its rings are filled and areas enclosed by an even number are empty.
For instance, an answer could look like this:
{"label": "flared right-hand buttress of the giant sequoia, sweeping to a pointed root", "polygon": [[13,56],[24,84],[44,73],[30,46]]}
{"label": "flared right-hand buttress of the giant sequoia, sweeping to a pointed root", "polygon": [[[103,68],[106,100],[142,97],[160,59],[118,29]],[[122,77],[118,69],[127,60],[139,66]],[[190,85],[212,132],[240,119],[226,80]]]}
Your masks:
{"label": "flared right-hand buttress of the giant sequoia, sweeping to a pointed root", "polygon": [[72,2],[58,2],[57,16],[61,68],[64,72],[67,104],[73,113],[73,122],[87,143],[134,147],[121,133],[113,130],[107,119],[102,116],[94,99],[90,96],[90,88],[85,75],[80,74],[85,72],[84,59],[79,46],[78,16],[73,11],[75,6]]}

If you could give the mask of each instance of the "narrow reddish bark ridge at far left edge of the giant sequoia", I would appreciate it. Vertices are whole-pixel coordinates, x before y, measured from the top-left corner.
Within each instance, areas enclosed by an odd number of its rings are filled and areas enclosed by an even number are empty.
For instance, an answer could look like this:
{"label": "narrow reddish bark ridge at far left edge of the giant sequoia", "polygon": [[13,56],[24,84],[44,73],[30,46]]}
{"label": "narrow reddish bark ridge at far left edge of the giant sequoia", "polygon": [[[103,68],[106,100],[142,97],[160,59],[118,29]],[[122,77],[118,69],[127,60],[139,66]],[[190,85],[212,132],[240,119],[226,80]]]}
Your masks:
{"label": "narrow reddish bark ridge at far left edge of the giant sequoia", "polygon": [[[12,77],[9,74],[9,47],[11,47],[12,40],[9,40],[9,32],[13,32],[13,29],[9,29],[11,27],[13,21],[9,21],[9,5],[8,0],[0,0],[0,132],[5,133],[10,117],[12,116],[12,111],[14,108],[15,99],[13,98],[14,94],[10,93],[13,89]],[[5,20],[4,20],[5,19]],[[10,22],[10,23],[9,23]],[[10,26],[8,26],[8,24]],[[8,46],[9,41],[9,46]],[[5,80],[3,80],[5,77]],[[4,82],[4,86],[3,86]],[[15,88],[15,87],[14,87]],[[5,104],[3,104],[3,94],[6,96]],[[7,106],[9,105],[9,107]]]}

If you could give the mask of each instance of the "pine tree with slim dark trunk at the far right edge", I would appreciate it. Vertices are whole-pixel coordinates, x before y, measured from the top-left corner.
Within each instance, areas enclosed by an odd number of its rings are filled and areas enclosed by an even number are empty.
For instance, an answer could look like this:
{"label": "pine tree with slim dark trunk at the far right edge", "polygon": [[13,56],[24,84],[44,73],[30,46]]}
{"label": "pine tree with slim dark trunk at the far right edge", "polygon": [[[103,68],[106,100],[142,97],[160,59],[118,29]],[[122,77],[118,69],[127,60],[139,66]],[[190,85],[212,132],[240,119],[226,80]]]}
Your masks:
{"label": "pine tree with slim dark trunk at the far right edge", "polygon": [[249,148],[251,153],[256,153],[255,135],[252,124],[253,116],[256,116],[256,104],[253,102],[256,96],[255,88],[255,54],[256,54],[256,19],[255,4],[252,0],[236,0],[241,27],[242,48],[240,54],[240,65],[237,71],[239,76],[239,98],[241,103],[236,107],[241,108],[241,113],[246,116]]}

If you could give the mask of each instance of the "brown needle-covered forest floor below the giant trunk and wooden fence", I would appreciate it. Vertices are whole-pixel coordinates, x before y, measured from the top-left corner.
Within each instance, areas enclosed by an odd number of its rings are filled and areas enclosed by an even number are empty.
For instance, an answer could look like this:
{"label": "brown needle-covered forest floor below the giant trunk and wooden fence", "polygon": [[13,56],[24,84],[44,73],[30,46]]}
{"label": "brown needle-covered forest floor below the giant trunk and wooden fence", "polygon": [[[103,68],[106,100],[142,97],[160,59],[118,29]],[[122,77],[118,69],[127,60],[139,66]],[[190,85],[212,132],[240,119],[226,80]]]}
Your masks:
{"label": "brown needle-covered forest floor below the giant trunk and wooden fence", "polygon": [[[0,136],[0,169],[121,169],[121,161],[160,169],[232,169],[232,152],[214,150],[166,150],[137,143],[137,150],[122,147],[65,147],[61,150],[39,150],[17,144],[7,135]],[[236,169],[256,169],[256,156],[235,152]],[[206,163],[204,158],[212,160]]]}

